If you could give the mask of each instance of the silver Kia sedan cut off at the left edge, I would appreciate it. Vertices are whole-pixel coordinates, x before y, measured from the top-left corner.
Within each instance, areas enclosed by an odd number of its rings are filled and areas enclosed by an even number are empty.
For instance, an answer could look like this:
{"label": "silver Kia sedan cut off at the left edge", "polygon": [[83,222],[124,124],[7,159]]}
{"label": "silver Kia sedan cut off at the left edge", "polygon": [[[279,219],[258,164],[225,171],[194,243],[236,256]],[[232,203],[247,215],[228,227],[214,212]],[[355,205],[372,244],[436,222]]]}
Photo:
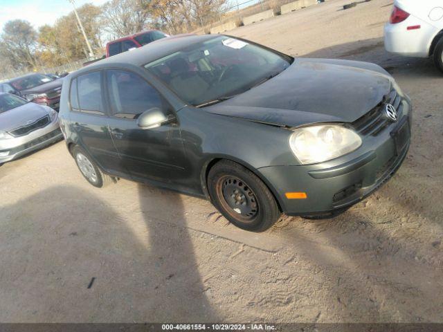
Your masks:
{"label": "silver Kia sedan cut off at the left edge", "polygon": [[62,138],[56,111],[0,93],[0,164]]}

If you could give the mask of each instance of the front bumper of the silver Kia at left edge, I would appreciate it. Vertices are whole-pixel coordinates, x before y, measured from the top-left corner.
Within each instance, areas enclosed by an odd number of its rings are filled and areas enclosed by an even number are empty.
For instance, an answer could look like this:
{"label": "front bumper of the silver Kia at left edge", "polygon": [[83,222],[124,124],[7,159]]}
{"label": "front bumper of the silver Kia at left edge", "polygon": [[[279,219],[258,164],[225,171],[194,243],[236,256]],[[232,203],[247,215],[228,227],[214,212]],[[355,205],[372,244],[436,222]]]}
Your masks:
{"label": "front bumper of the silver Kia at left edge", "polygon": [[63,139],[57,118],[46,127],[31,131],[25,136],[0,140],[0,163],[17,159],[31,151]]}

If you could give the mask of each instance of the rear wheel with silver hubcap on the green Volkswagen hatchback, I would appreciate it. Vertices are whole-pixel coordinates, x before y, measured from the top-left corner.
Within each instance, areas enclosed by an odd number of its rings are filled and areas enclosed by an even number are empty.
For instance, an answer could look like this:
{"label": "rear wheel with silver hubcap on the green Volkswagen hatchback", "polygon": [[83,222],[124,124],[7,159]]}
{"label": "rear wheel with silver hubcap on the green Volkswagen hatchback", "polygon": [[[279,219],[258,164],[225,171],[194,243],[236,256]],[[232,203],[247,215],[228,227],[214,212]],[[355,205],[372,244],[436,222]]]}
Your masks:
{"label": "rear wheel with silver hubcap on the green Volkswagen hatchback", "polygon": [[102,188],[115,182],[112,176],[104,174],[92,158],[78,146],[73,147],[72,155],[82,176],[94,187]]}

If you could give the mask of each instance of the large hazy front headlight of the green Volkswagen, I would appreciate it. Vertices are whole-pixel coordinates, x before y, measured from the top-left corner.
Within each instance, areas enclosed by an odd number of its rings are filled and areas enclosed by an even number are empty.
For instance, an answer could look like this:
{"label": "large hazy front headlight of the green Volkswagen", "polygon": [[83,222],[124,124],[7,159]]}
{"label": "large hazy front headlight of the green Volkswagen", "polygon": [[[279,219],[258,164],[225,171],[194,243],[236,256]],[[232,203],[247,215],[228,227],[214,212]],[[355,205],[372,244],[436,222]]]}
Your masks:
{"label": "large hazy front headlight of the green Volkswagen", "polygon": [[289,137],[289,146],[303,165],[349,154],[360,145],[361,138],[357,133],[338,124],[295,129]]}

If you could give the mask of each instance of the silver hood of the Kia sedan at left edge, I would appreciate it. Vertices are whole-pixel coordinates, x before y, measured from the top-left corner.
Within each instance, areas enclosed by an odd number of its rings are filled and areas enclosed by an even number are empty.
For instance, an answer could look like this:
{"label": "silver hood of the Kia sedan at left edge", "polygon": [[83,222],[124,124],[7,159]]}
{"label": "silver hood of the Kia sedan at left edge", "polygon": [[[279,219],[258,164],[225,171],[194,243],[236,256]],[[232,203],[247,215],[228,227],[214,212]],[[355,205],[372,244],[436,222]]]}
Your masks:
{"label": "silver hood of the Kia sedan at left edge", "polygon": [[9,131],[25,126],[39,118],[43,118],[47,114],[48,107],[28,102],[28,104],[0,113],[0,130]]}

